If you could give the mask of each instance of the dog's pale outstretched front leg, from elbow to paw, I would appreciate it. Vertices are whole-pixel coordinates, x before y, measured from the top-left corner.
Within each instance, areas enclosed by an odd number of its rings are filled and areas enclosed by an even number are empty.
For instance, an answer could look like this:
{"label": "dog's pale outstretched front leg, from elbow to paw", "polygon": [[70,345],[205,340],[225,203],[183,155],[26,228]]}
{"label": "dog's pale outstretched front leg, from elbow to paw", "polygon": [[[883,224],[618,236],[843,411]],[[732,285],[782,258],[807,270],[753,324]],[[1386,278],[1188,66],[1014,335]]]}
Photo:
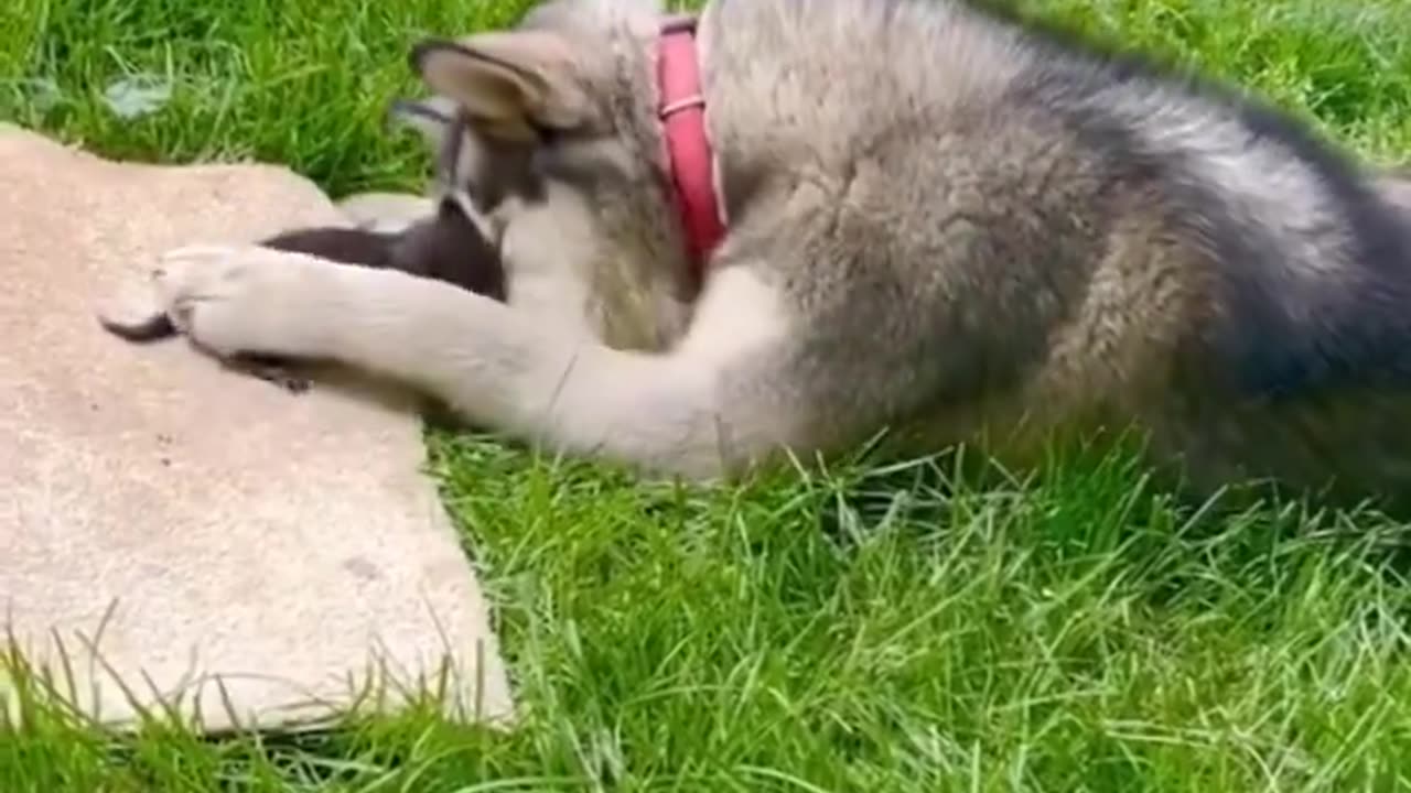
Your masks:
{"label": "dog's pale outstretched front leg, from elbow to paw", "polygon": [[787,440],[769,389],[741,374],[782,336],[769,293],[718,281],[684,343],[645,354],[436,281],[264,247],[185,248],[157,274],[174,322],[217,356],[336,360],[556,452],[693,477]]}

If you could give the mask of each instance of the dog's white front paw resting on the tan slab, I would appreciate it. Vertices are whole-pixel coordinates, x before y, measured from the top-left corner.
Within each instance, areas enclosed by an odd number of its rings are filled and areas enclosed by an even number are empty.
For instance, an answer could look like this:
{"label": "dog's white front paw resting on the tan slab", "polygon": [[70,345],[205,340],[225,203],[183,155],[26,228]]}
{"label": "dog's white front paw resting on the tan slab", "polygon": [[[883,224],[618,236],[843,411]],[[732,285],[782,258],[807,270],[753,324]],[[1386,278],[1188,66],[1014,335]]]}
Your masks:
{"label": "dog's white front paw resting on the tan slab", "polygon": [[161,257],[152,281],[162,309],[219,357],[320,353],[322,262],[260,246],[190,246]]}

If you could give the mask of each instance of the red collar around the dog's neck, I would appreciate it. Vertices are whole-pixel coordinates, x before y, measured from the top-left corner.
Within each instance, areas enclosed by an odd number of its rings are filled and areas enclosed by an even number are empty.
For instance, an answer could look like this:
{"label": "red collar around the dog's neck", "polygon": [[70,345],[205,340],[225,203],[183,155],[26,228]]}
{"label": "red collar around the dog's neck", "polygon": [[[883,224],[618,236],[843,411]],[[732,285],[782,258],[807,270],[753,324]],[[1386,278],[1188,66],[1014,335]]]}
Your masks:
{"label": "red collar around the dog's neck", "polygon": [[686,246],[700,282],[706,261],[725,236],[724,212],[715,195],[715,165],[706,137],[706,97],[696,54],[696,20],[679,17],[662,25],[658,83],[666,161],[676,186],[673,199],[686,229]]}

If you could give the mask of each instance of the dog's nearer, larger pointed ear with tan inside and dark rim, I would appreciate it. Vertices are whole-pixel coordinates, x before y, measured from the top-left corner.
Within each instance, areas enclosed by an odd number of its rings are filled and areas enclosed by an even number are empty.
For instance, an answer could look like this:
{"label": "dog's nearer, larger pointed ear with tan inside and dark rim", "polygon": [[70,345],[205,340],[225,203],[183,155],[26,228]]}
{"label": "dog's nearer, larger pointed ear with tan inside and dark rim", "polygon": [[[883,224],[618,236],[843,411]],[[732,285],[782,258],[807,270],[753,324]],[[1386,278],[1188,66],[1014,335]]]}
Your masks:
{"label": "dog's nearer, larger pointed ear with tan inside and dark rim", "polygon": [[523,143],[539,128],[573,128],[586,120],[588,103],[574,79],[573,52],[557,34],[426,40],[411,59],[426,85],[460,104],[471,126],[488,137]]}

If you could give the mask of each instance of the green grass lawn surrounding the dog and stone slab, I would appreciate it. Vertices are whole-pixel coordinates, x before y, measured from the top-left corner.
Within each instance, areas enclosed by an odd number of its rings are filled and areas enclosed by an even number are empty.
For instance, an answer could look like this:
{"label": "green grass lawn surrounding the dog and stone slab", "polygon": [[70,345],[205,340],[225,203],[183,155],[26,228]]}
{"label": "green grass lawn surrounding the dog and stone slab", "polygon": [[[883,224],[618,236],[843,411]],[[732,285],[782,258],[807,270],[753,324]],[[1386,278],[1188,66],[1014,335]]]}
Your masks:
{"label": "green grass lawn surrounding the dog and stone slab", "polygon": [[[1405,0],[1033,0],[1411,155]],[[0,119],[107,155],[286,162],[419,189],[381,127],[425,32],[511,0],[3,0]],[[169,86],[126,117],[114,85]],[[3,175],[0,175],[3,182]],[[1411,790],[1405,529],[1212,518],[1120,459],[1009,487],[938,463],[639,487],[430,433],[499,610],[523,727],[429,715],[298,741],[0,737],[0,792]]]}

